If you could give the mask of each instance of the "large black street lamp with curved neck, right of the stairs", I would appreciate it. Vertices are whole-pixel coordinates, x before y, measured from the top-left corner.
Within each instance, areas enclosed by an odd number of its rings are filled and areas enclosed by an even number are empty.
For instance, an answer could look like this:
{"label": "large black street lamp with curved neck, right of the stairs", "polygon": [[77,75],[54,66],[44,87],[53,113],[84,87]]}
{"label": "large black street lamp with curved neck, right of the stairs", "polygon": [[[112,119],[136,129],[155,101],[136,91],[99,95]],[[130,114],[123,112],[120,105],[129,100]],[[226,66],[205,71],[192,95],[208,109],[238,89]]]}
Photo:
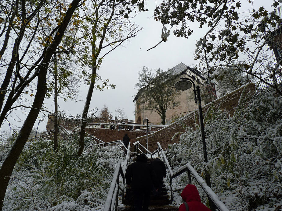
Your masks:
{"label": "large black street lamp with curved neck, right of the stairs", "polygon": [[[187,74],[186,74],[187,75]],[[192,79],[189,78],[180,78],[181,81],[178,81],[174,84],[175,89],[177,90],[188,90],[192,87],[194,89],[194,95],[195,95],[195,103],[198,104],[198,114],[199,114],[199,122],[200,122],[200,128],[201,128],[201,136],[202,136],[202,143],[203,143],[203,153],[204,153],[204,162],[208,164],[208,156],[207,156],[207,147],[206,147],[206,139],[205,139],[205,131],[204,131],[204,121],[203,121],[203,112],[202,112],[202,105],[201,105],[201,96],[200,96],[200,86],[195,86],[195,83]],[[196,89],[197,89],[197,95],[196,95]],[[206,183],[209,187],[211,187],[211,179],[210,174],[205,169],[206,174]]]}

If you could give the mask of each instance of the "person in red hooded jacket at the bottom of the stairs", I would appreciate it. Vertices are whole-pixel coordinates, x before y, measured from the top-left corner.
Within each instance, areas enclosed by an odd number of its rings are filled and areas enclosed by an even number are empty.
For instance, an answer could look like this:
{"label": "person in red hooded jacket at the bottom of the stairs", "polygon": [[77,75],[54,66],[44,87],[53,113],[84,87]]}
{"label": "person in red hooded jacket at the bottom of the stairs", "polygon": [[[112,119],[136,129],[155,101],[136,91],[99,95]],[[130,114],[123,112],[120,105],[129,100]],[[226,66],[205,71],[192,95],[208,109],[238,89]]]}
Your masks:
{"label": "person in red hooded jacket at the bottom of the stairs", "polygon": [[[186,185],[180,195],[188,204],[189,211],[211,211],[207,206],[201,203],[201,198],[195,185]],[[179,206],[178,211],[186,211],[185,203]]]}

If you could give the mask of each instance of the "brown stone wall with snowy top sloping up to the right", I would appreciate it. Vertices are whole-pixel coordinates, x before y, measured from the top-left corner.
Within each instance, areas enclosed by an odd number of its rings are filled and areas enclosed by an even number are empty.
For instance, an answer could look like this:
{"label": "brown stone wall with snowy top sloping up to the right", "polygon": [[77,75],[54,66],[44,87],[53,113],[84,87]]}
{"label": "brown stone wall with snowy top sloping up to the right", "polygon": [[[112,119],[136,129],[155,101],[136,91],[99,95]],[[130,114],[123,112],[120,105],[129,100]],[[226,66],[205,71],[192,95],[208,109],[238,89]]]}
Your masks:
{"label": "brown stone wall with snowy top sloping up to the right", "polygon": [[[213,101],[215,108],[220,108],[222,111],[226,110],[230,116],[233,116],[233,113],[238,105],[240,96],[242,91],[245,88],[245,95],[246,93],[255,93],[255,85],[253,83],[249,83],[246,86],[240,87],[237,90],[234,90],[231,93],[228,93],[219,99]],[[211,106],[212,103],[209,103],[202,107],[203,116],[208,108]],[[195,128],[195,119],[194,115],[196,112],[196,116],[198,117],[198,111],[192,111],[191,113],[187,114],[183,118],[179,119],[178,121],[173,122],[172,124],[168,125],[165,128],[158,130],[157,132],[153,132],[148,135],[148,149],[150,152],[153,152],[157,149],[157,142],[160,142],[163,149],[166,149],[168,144],[173,144],[179,142],[179,134],[175,135],[177,132],[185,132],[183,127],[183,123],[185,125],[190,125]],[[174,136],[175,135],[175,136]],[[174,136],[174,137],[173,137]],[[172,139],[173,138],[173,139]],[[146,135],[137,137],[137,141],[139,141],[143,146],[146,146]]]}

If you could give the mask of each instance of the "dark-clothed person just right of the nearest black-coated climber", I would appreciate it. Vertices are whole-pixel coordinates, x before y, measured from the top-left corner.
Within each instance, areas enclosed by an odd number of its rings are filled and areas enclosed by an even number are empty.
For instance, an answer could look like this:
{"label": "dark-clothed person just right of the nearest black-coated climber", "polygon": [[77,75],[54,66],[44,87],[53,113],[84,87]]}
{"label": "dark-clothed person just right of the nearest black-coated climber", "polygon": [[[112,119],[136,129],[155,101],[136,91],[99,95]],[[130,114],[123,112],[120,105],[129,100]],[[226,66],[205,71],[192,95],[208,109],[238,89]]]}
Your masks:
{"label": "dark-clothed person just right of the nearest black-coated climber", "polygon": [[161,190],[163,178],[166,177],[165,163],[161,161],[159,157],[157,157],[155,160],[152,160],[151,166],[154,171],[154,175],[156,176],[157,188]]}

